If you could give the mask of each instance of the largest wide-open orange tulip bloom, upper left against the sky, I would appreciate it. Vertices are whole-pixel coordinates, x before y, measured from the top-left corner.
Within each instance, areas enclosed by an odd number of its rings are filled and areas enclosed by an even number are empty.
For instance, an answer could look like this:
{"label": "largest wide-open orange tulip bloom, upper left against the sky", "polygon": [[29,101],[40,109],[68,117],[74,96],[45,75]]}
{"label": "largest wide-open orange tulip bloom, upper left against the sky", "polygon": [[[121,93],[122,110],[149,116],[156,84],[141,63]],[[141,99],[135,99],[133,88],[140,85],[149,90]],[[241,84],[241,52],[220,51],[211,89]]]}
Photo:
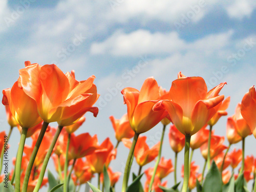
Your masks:
{"label": "largest wide-open orange tulip bloom, upper left against the sky", "polygon": [[99,96],[93,83],[95,76],[77,81],[54,64],[39,66],[38,63],[19,70],[19,75],[20,86],[36,101],[37,111],[45,122],[58,121],[59,125],[68,126],[87,111],[94,116],[98,113],[92,107]]}

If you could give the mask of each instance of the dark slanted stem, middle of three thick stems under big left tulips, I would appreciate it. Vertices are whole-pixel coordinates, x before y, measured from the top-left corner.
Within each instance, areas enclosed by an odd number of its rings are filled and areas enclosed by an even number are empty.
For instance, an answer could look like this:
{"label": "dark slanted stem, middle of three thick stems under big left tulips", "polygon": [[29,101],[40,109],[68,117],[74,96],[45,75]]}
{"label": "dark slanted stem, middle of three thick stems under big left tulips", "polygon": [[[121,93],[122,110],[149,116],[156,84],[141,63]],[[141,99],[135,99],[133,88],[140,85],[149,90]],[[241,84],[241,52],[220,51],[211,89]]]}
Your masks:
{"label": "dark slanted stem, middle of three thick stems under big left tulips", "polygon": [[28,183],[29,183],[29,177],[30,177],[30,174],[31,174],[31,170],[32,170],[35,158],[36,158],[36,154],[37,154],[37,152],[39,150],[40,144],[42,142],[42,138],[44,138],[44,135],[45,135],[47,127],[48,127],[48,124],[49,123],[47,123],[45,121],[42,124],[42,128],[41,128],[40,134],[39,134],[39,136],[37,138],[37,141],[36,141],[36,144],[34,146],[33,152],[32,152],[32,154],[30,156],[29,164],[28,164],[28,167],[27,167],[27,170],[26,170],[24,181],[23,181],[23,187],[22,187],[22,191],[23,192],[27,191]]}

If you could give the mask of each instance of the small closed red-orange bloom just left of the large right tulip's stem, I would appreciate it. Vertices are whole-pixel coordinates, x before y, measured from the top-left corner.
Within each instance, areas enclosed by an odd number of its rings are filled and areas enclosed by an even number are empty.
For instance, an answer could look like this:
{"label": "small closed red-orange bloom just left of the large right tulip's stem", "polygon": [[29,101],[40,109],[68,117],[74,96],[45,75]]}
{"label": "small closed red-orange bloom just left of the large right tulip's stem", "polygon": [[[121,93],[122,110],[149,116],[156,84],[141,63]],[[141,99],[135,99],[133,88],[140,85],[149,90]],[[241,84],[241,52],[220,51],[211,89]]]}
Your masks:
{"label": "small closed red-orange bloom just left of the large right tulip's stem", "polygon": [[185,146],[185,136],[180,133],[175,125],[170,125],[168,136],[170,147],[172,147],[174,152],[179,153]]}

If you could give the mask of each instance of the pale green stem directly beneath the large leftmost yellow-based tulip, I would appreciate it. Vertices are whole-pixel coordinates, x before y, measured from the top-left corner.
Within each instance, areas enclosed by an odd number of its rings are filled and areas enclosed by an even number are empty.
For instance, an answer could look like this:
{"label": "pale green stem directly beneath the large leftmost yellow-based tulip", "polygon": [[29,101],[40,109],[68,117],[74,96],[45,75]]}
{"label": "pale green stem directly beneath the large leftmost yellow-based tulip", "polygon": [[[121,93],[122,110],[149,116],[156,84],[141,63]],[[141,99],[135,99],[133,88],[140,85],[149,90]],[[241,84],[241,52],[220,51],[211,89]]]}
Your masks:
{"label": "pale green stem directly beneath the large leftmost yellow-based tulip", "polygon": [[24,145],[26,141],[26,135],[28,133],[28,128],[22,128],[22,135],[20,136],[19,146],[18,146],[18,154],[16,159],[16,174],[15,174],[15,192],[20,191],[20,169],[22,167],[22,156]]}

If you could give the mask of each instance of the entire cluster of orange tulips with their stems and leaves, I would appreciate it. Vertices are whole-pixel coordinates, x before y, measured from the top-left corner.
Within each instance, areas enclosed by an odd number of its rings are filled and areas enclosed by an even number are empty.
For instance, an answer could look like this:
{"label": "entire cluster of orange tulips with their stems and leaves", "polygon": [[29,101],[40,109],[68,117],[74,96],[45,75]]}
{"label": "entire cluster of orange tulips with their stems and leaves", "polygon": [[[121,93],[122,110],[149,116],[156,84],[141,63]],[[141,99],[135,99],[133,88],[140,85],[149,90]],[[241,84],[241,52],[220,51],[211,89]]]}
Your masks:
{"label": "entire cluster of orange tulips with their stems and leaves", "polygon": [[[25,62],[25,68],[19,70],[19,78],[12,88],[3,90],[2,102],[6,106],[10,130],[8,136],[5,131],[0,133],[0,173],[8,149],[5,138],[10,138],[15,126],[21,136],[16,158],[13,158],[14,169],[0,177],[1,191],[39,191],[47,183],[49,191],[79,191],[83,184],[87,185],[87,191],[88,186],[94,192],[115,191],[121,173],[113,173],[110,163],[116,159],[120,142],[130,148],[122,192],[187,192],[193,188],[197,188],[198,192],[248,191],[247,182],[255,179],[256,174],[256,158],[244,155],[245,138],[251,134],[256,138],[254,86],[238,103],[234,115],[227,118],[226,138],[229,146],[225,146],[225,137],[215,135],[212,127],[221,116],[227,115],[225,110],[230,97],[224,99],[224,95],[219,95],[226,82],[207,91],[203,78],[186,77],[180,72],[170,90],[166,91],[158,86],[153,77],[147,78],[140,91],[134,88],[121,91],[127,113],[121,119],[110,117],[117,140],[114,146],[110,138],[99,144],[97,135],[74,134],[86,120],[83,116],[86,112],[92,112],[95,117],[98,114],[98,108],[93,106],[99,97],[94,78],[91,76],[78,81],[74,71],[64,74],[54,64],[40,66],[38,63]],[[51,122],[57,122],[58,127],[50,126]],[[150,148],[146,136],[140,134],[151,130],[159,122],[163,124],[161,139]],[[171,159],[161,157],[163,136],[169,123],[172,124],[168,136],[170,147],[175,152],[174,165]],[[25,144],[28,137],[32,138],[31,146]],[[231,144],[240,141],[242,148],[229,152]],[[179,187],[177,156],[183,148],[183,183]],[[200,148],[205,159],[202,173],[192,161],[197,148]],[[133,174],[133,181],[129,184],[134,157],[139,172]],[[50,158],[54,161],[57,178],[50,171],[48,178],[45,177]],[[142,167],[155,159],[155,166],[142,172]],[[234,169],[240,163],[239,172],[235,174]],[[208,172],[205,176],[206,166]],[[227,169],[229,166],[232,172]],[[167,188],[167,181],[162,182],[162,179],[171,172],[174,172],[174,182],[168,181],[168,185],[173,187]],[[95,174],[97,187],[90,183]],[[144,187],[140,182],[143,175],[146,177]],[[253,188],[256,192],[256,185]]]}

